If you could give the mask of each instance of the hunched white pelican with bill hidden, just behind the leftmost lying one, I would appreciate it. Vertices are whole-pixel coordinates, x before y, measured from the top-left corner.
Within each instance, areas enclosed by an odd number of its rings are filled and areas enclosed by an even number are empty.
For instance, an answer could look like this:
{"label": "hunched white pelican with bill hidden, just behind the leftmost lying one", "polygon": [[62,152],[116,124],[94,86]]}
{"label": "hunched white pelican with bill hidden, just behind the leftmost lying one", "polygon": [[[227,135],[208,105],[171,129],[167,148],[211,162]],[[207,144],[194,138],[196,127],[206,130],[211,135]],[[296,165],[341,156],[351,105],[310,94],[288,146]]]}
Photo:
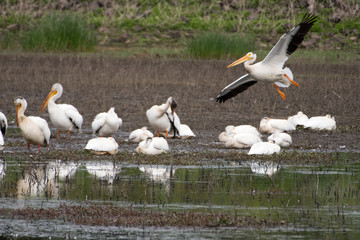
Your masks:
{"label": "hunched white pelican with bill hidden, just behind the leftmost lying one", "polygon": [[94,134],[98,133],[102,137],[111,137],[122,125],[122,119],[115,113],[115,108],[110,108],[108,112],[102,112],[95,116],[91,123]]}

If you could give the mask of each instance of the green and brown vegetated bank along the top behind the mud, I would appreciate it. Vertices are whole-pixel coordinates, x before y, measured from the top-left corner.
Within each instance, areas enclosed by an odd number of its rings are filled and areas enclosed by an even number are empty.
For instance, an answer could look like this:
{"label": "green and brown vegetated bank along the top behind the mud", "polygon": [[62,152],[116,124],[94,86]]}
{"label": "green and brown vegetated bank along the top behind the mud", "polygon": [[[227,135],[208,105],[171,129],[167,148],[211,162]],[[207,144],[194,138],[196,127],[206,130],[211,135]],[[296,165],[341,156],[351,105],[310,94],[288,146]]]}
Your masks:
{"label": "green and brown vegetated bank along the top behind the mud", "polygon": [[[102,2],[102,3],[99,3]],[[312,5],[311,5],[312,4]],[[304,3],[295,0],[270,1],[0,1],[0,47],[30,51],[89,51],[94,44],[93,35],[90,43],[79,46],[87,35],[85,29],[95,31],[97,48],[116,47],[126,49],[169,47],[185,53],[182,56],[200,57],[201,50],[194,53],[193,46],[205,41],[221,44],[233,36],[244,42],[251,41],[249,47],[269,50],[281,34],[295,26],[309,9],[319,18],[309,36],[305,39],[307,48],[315,49],[358,49],[360,16],[356,9],[360,3],[344,0],[335,3],[330,0]],[[55,14],[54,14],[55,13]],[[76,19],[73,19],[76,13]],[[344,14],[346,13],[346,14]],[[65,43],[61,34],[44,37],[41,31],[48,29],[56,16],[65,15],[64,21],[75,20],[82,32],[78,36],[68,36]],[[72,17],[70,17],[72,16]],[[81,17],[80,17],[81,16]],[[69,22],[67,22],[69,23]],[[47,25],[47,26],[46,26]],[[73,24],[70,24],[71,26]],[[75,28],[75,26],[72,26]],[[43,30],[38,30],[43,28]],[[57,32],[54,27],[54,32]],[[69,28],[67,33],[75,29]],[[214,37],[217,33],[219,37]],[[48,34],[48,33],[46,33]],[[82,36],[82,37],[81,37]],[[251,36],[250,39],[245,36]],[[47,40],[45,40],[45,38]],[[219,40],[219,39],[222,40]],[[77,40],[75,40],[77,39]],[[40,46],[34,46],[38,40]],[[53,43],[50,43],[53,41]],[[46,43],[44,43],[46,42]],[[69,46],[69,44],[73,44]],[[223,42],[224,43],[224,42]],[[189,48],[187,48],[189,47]],[[201,54],[204,58],[222,58],[226,51],[233,51],[225,46],[212,49],[216,54]],[[205,48],[204,50],[206,50]],[[240,51],[240,50],[239,50]],[[246,50],[247,51],[247,50]],[[172,53],[170,53],[172,54]],[[242,52],[240,55],[244,54]],[[237,54],[235,54],[237,55]]]}

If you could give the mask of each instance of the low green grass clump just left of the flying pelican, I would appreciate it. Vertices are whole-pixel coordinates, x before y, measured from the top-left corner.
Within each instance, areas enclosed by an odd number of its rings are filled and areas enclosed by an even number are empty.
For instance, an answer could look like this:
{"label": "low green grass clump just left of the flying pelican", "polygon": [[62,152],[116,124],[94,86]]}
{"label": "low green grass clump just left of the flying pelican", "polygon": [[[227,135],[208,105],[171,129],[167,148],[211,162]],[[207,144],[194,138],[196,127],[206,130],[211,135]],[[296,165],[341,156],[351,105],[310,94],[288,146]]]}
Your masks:
{"label": "low green grass clump just left of the flying pelican", "polygon": [[192,39],[187,46],[187,53],[194,58],[239,57],[254,49],[251,37],[241,37],[218,32],[208,32]]}

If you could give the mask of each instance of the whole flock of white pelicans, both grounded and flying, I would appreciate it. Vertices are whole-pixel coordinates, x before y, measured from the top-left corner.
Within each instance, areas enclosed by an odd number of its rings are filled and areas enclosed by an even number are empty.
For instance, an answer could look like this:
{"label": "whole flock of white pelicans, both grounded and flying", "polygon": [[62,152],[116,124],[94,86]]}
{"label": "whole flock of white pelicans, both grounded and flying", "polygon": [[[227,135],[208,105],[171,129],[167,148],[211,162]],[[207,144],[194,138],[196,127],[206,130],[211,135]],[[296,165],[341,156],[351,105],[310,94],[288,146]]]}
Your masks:
{"label": "whole flock of white pelicans, both grounded and flying", "polygon": [[[274,84],[280,96],[285,100],[285,94],[279,90],[279,87],[288,87],[291,84],[298,86],[299,84],[294,81],[291,70],[283,68],[283,66],[304,40],[305,35],[316,20],[316,16],[305,14],[296,27],[279,39],[263,61],[253,64],[256,60],[256,54],[250,52],[230,64],[228,68],[244,63],[248,73],[226,86],[217,96],[217,101],[225,102],[257,82]],[[61,84],[55,83],[44,100],[41,110],[48,108],[50,120],[53,126],[58,129],[57,137],[60,138],[60,132],[65,131],[67,132],[67,139],[69,139],[70,132],[81,129],[83,118],[74,106],[55,103],[62,92]],[[30,149],[30,144],[38,145],[38,150],[42,144],[49,144],[51,133],[46,120],[40,117],[25,116],[27,102],[24,98],[18,97],[14,103],[16,106],[16,122],[27,141],[28,149]],[[167,143],[169,136],[179,138],[195,136],[189,126],[181,124],[174,111],[175,108],[176,102],[172,97],[169,97],[166,103],[154,105],[147,110],[146,116],[150,126],[156,132],[156,137],[146,127],[133,131],[129,140],[139,142],[139,146],[136,148],[137,152],[159,154],[169,150]],[[3,114],[0,117],[2,121],[1,130],[4,134],[7,120]],[[97,154],[115,154],[118,144],[111,136],[118,131],[121,125],[122,120],[118,118],[114,108],[110,108],[108,112],[99,113],[92,122],[92,131],[101,137],[91,139],[85,148]],[[224,142],[227,147],[250,148],[249,154],[272,154],[279,152],[280,147],[287,147],[292,143],[291,136],[285,132],[295,130],[297,125],[320,130],[332,130],[336,127],[335,120],[330,115],[308,119],[306,115],[299,112],[289,119],[263,118],[260,122],[260,132],[250,125],[227,126],[225,132],[220,134],[219,140]],[[268,142],[262,142],[261,133],[271,134],[268,137]],[[160,137],[160,134],[163,137]],[[0,144],[4,144],[2,135],[0,136]]]}

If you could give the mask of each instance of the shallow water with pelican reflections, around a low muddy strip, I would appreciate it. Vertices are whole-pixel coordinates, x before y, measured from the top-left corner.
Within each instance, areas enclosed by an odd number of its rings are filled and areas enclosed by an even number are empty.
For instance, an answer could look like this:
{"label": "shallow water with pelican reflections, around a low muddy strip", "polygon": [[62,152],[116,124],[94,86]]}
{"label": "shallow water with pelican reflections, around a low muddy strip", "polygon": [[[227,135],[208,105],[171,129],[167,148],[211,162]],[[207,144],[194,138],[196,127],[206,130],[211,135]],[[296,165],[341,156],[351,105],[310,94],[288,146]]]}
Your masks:
{"label": "shallow water with pelican reflections, around a low muddy strip", "polygon": [[[344,163],[345,162],[345,163]],[[111,203],[235,213],[284,222],[260,228],[104,227],[0,216],[0,236],[43,238],[360,238],[360,161],[302,165],[128,165],[111,161],[0,159],[0,208]],[[50,227],[49,227],[50,226]]]}

